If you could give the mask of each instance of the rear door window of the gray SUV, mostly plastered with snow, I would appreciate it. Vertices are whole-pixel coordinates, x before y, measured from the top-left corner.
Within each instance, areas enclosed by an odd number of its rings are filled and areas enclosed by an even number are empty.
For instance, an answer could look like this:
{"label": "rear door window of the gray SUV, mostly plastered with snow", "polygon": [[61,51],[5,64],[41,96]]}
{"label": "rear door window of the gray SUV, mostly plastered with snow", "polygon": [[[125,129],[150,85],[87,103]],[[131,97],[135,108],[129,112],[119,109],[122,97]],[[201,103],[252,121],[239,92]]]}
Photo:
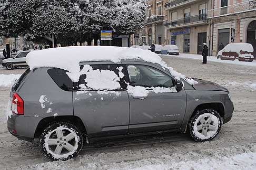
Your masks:
{"label": "rear door window of the gray SUV, mostly plastered with snow", "polygon": [[[98,84],[97,88],[99,88],[100,90],[105,90],[104,86],[106,87],[106,90],[109,89],[108,86],[110,86],[111,83],[117,82],[120,84],[119,88],[115,89],[115,90],[124,90],[127,87],[127,84],[124,81],[124,76],[122,76],[122,66],[121,65],[117,65],[117,64],[96,64],[96,65],[90,65],[92,67],[92,70],[96,71],[95,72],[95,76],[90,76],[88,77],[88,75],[84,74],[80,76],[80,79],[78,81],[77,84],[75,84],[75,89],[79,90],[79,89],[83,89],[83,88],[92,88],[92,86],[95,86],[96,84]],[[82,70],[85,66],[80,66],[80,69]],[[97,76],[99,76],[98,78],[96,78]],[[88,77],[88,79],[94,79],[94,83],[92,84],[90,82],[86,82],[86,78]],[[103,79],[101,79],[103,78]],[[109,83],[110,84],[109,84]],[[105,84],[104,84],[105,83]],[[91,85],[90,85],[91,84]],[[84,87],[85,86],[85,87]],[[93,89],[93,88],[92,88]],[[114,89],[113,89],[114,90]]]}

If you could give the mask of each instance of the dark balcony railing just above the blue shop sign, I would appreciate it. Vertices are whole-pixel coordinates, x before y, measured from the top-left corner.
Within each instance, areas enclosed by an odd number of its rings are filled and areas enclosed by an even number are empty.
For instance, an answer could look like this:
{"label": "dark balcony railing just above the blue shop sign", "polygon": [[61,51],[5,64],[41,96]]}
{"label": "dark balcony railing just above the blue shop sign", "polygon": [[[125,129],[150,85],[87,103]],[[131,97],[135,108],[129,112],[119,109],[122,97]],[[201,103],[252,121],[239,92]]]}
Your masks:
{"label": "dark balcony railing just above the blue shop sign", "polygon": [[207,14],[200,14],[200,15],[195,15],[195,16],[186,17],[182,19],[172,20],[170,22],[164,23],[164,26],[169,27],[169,26],[177,26],[182,24],[189,24],[194,22],[206,22],[206,21],[207,21]]}

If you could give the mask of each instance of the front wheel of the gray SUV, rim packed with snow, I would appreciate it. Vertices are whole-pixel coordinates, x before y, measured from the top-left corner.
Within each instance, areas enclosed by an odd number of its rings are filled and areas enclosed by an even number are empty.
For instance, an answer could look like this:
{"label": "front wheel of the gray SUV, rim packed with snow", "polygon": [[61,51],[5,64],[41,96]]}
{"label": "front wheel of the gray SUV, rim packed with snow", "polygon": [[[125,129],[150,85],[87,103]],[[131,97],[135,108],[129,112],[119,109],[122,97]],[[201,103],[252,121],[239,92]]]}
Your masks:
{"label": "front wheel of the gray SUV, rim packed with snow", "polygon": [[189,130],[196,142],[210,141],[221,130],[221,116],[212,109],[197,111],[189,122]]}

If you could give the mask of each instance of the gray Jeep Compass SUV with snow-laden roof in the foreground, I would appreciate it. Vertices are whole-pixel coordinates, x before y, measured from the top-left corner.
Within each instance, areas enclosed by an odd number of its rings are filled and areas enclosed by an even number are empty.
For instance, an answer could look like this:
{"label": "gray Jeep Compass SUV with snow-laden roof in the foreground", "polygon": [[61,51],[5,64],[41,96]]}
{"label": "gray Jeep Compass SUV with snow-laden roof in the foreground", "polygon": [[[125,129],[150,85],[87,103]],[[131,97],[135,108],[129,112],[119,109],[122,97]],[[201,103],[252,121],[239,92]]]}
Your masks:
{"label": "gray Jeep Compass SUV with snow-laden roof in the foreground", "polygon": [[[213,82],[194,79],[198,83],[191,85],[139,59],[80,62],[81,70],[85,65],[113,71],[120,88],[85,90],[86,74],[72,82],[63,69],[27,69],[11,90],[8,131],[22,140],[40,139],[51,160],[68,160],[85,143],[110,136],[188,132],[195,141],[208,141],[231,120],[229,91]],[[103,80],[98,83],[104,87]],[[132,93],[128,86],[142,89]]]}

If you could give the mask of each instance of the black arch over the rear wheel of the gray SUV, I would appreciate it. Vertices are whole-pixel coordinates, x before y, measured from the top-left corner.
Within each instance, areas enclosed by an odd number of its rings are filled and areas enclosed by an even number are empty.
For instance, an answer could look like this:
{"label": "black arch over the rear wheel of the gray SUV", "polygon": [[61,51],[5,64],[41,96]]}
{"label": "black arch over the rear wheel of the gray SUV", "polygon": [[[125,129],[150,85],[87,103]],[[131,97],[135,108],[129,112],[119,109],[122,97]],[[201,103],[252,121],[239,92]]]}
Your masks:
{"label": "black arch over the rear wheel of the gray SUV", "polygon": [[77,125],[82,133],[84,135],[87,135],[87,131],[85,128],[85,125],[83,121],[78,117],[78,116],[73,116],[73,115],[63,115],[63,116],[51,116],[51,117],[46,117],[43,118],[36,127],[36,131],[34,134],[34,139],[38,139],[41,134],[43,133],[44,129],[51,124],[51,122],[56,122],[56,121],[65,121],[65,122],[71,122],[74,123],[74,125]]}

